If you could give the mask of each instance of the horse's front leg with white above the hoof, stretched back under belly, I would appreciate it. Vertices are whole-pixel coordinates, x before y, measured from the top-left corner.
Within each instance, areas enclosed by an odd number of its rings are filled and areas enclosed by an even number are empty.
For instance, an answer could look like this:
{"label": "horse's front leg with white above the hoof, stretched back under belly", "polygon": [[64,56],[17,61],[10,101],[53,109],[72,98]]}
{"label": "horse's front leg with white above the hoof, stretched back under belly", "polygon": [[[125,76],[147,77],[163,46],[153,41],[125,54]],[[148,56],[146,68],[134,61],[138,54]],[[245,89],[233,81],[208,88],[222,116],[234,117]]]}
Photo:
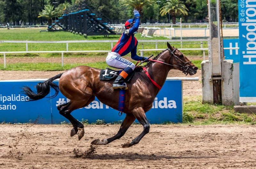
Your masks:
{"label": "horse's front leg with white above the hoof, stretched back under belly", "polygon": [[117,134],[111,138],[108,138],[108,139],[103,139],[103,140],[99,140],[99,139],[96,139],[94,141],[92,141],[91,144],[94,144],[94,145],[106,145],[108,143],[111,143],[112,141],[115,141],[116,139],[119,139],[121,138],[122,136],[124,136],[125,132],[128,130],[128,128],[132,125],[133,121],[135,120],[135,117],[134,115],[126,115],[125,118],[124,118],[124,121],[122,122],[121,124],[121,127],[119,129],[119,131],[117,132]]}

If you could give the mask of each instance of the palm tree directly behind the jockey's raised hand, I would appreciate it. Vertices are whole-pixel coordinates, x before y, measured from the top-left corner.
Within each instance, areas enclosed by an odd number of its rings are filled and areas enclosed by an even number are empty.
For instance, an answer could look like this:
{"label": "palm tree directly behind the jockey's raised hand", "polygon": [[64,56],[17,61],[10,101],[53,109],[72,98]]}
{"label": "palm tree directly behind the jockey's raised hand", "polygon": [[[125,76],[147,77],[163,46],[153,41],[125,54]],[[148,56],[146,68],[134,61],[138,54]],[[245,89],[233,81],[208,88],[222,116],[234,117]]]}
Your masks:
{"label": "palm tree directly behind the jockey's raised hand", "polygon": [[[146,5],[155,4],[155,0],[123,0],[121,2],[122,6],[132,6],[140,13],[140,18],[142,18],[142,10]],[[141,21],[140,21],[141,22]]]}

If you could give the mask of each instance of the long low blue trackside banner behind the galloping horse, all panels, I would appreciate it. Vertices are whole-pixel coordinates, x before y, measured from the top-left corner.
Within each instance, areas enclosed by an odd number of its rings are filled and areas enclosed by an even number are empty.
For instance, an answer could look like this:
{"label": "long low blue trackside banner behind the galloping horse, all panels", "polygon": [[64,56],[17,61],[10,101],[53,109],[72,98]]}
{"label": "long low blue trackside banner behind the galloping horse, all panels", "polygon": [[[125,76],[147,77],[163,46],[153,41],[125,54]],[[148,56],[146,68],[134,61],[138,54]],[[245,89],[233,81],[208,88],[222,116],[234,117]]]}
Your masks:
{"label": "long low blue trackside banner behind the galloping horse, all panels", "polygon": [[[68,121],[59,114],[57,106],[69,100],[61,93],[53,99],[41,99],[24,102],[28,96],[20,94],[22,86],[30,86],[36,90],[39,82],[0,82],[0,122],[28,122],[38,121],[43,124],[59,124]],[[58,82],[55,82],[58,84]],[[171,90],[175,89],[175,90]],[[14,98],[15,97],[15,98]],[[79,121],[88,119],[90,123],[104,120],[107,123],[124,119],[117,110],[102,104],[97,98],[87,107],[75,110],[72,115]],[[182,122],[182,82],[181,80],[167,80],[156,96],[153,107],[146,113],[151,124],[172,121]]]}

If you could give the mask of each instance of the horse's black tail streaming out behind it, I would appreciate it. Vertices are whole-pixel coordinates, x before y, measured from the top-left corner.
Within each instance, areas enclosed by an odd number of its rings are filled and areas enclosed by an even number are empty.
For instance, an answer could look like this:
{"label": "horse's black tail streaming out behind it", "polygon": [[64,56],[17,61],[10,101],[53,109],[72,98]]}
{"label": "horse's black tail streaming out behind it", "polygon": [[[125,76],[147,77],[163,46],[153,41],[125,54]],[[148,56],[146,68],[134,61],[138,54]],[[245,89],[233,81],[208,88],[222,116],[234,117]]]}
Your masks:
{"label": "horse's black tail streaming out behind it", "polygon": [[59,94],[59,86],[55,83],[52,83],[53,80],[58,79],[61,77],[63,73],[60,73],[59,75],[56,75],[43,83],[38,83],[36,85],[36,92],[32,91],[28,86],[24,86],[21,89],[23,90],[22,93],[26,94],[30,99],[28,101],[35,101],[39,99],[43,99],[45,96],[47,96],[50,92],[50,89],[53,88],[55,91],[55,94],[51,96],[50,98],[54,98]]}

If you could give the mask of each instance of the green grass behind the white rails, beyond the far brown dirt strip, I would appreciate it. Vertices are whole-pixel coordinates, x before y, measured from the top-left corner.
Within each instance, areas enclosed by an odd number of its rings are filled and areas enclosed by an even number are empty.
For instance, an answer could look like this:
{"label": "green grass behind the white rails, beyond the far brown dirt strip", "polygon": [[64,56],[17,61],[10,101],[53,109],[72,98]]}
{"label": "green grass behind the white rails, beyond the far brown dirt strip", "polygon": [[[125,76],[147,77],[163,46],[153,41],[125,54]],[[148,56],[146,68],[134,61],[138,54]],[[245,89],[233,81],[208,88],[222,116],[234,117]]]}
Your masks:
{"label": "green grass behind the white rails, beyond the far brown dirt strip", "polygon": [[[118,40],[120,35],[113,35],[109,37],[103,36],[88,36],[87,40]],[[140,40],[168,40],[164,37],[153,37],[153,38],[143,38],[140,34],[135,36],[138,41],[138,48],[142,49]],[[39,29],[0,29],[0,40],[32,40],[32,41],[60,41],[60,40],[86,40],[83,36],[74,35],[69,32],[39,32]],[[193,44],[187,44],[193,43]],[[115,43],[114,43],[115,45]],[[180,48],[180,42],[171,43],[175,48]],[[159,49],[165,49],[166,43],[158,43]],[[144,43],[144,49],[155,49],[155,43]],[[182,48],[200,48],[200,42],[183,42]],[[204,42],[203,48],[207,48],[207,42]],[[28,43],[28,51],[61,51],[66,50],[66,43]],[[69,43],[68,50],[111,50],[111,43]],[[0,43],[1,52],[10,51],[26,51],[25,43]],[[156,55],[159,51],[144,52],[144,55]],[[203,56],[203,51],[184,51],[186,56]],[[206,52],[207,53],[207,52]],[[138,52],[139,54],[139,52]],[[8,56],[13,56],[14,54],[8,54]],[[25,54],[15,54],[14,56],[24,56]],[[49,57],[52,54],[38,54],[41,57]],[[97,56],[95,53],[83,54],[86,56]],[[139,54],[140,55],[140,54]],[[1,55],[3,56],[3,55]]]}

